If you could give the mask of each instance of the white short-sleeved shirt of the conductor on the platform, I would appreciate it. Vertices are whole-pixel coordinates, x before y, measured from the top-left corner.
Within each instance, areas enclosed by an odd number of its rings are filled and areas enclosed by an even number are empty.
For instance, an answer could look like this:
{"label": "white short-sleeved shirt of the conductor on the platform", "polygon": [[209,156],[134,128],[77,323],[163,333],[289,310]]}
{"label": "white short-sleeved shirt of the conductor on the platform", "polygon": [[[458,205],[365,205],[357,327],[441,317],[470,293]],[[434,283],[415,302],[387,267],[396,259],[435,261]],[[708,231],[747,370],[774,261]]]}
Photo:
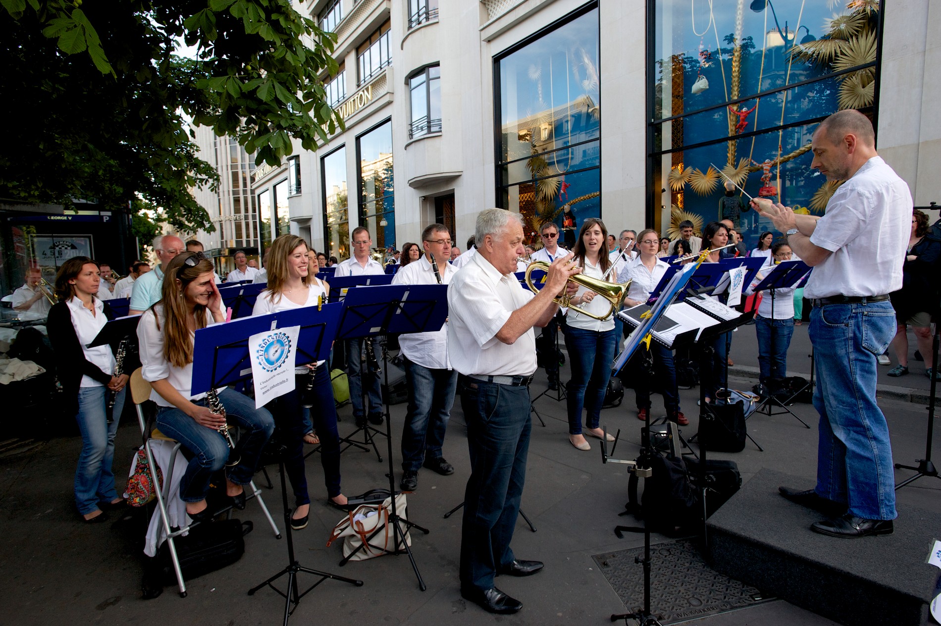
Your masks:
{"label": "white short-sleeved shirt of the conductor on the platform", "polygon": [[911,224],[908,185],[873,156],[839,185],[817,220],[810,243],[833,254],[814,267],[804,296],[881,296],[901,289]]}

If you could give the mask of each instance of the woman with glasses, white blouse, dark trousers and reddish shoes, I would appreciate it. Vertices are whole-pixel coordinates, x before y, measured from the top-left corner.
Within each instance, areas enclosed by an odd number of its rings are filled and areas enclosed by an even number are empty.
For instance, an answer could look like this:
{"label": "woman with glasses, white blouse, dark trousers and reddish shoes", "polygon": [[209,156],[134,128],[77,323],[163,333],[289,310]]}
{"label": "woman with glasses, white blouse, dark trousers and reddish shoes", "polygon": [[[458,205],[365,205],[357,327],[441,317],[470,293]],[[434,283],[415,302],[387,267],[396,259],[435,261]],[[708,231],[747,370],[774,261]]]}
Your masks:
{"label": "woman with glasses, white blouse, dark trousers and reddish shoes", "polygon": [[[660,239],[656,231],[647,229],[637,235],[637,249],[640,255],[626,265],[617,277],[618,282],[631,281],[628,297],[624,298],[625,307],[646,303],[651,292],[660,284],[669,265],[658,258],[659,248]],[[650,412],[650,388],[656,380],[663,394],[663,408],[666,409],[667,417],[678,425],[689,424],[690,421],[679,410],[677,370],[673,363],[673,352],[657,342],[650,342],[650,356],[653,359],[653,371],[638,372],[634,385],[637,393],[637,418],[646,420]],[[650,376],[654,372],[657,376]]]}

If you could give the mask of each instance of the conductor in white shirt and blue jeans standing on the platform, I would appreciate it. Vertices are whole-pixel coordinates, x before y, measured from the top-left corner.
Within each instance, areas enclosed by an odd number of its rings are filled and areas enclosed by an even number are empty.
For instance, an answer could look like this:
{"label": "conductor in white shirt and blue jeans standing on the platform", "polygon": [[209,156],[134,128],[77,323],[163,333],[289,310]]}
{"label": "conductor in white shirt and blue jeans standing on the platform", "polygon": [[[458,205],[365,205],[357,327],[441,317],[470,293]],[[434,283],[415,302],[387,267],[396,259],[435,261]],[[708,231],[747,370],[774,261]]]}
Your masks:
{"label": "conductor in white shirt and blue jeans standing on the platform", "polygon": [[888,535],[895,510],[895,475],[885,415],[876,404],[876,357],[895,329],[888,294],[901,289],[901,265],[912,220],[912,196],[875,150],[869,118],[852,109],[821,122],[814,159],[828,180],[846,181],[823,217],[794,215],[782,204],[753,206],[788,233],[791,249],[814,267],[810,298],[821,414],[817,487],[781,488],[789,500],[831,519],[811,530],[841,538]]}

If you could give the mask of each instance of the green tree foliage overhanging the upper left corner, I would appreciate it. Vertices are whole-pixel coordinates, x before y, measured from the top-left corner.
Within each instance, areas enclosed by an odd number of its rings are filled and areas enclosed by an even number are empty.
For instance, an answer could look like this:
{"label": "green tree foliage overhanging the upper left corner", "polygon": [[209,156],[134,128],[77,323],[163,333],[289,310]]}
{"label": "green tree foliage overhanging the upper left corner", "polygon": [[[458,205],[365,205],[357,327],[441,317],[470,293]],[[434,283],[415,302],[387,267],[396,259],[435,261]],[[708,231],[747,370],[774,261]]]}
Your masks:
{"label": "green tree foliage overhanging the upper left corner", "polygon": [[[190,120],[271,165],[343,120],[320,75],[336,36],[290,0],[0,0],[7,141],[0,197],[112,209],[140,197],[174,228],[213,230],[189,193],[217,185]],[[175,56],[183,40],[197,58]],[[325,130],[326,127],[326,130]]]}

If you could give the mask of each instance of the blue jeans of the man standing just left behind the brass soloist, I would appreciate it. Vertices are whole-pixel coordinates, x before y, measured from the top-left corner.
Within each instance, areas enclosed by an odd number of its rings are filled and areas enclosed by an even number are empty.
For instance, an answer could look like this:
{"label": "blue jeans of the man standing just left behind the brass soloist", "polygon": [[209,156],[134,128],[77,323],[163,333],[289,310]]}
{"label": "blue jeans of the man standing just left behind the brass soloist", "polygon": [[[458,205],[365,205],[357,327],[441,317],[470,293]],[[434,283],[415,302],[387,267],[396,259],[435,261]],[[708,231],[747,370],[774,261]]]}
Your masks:
{"label": "blue jeans of the man standing just left behind the brass soloist", "polygon": [[455,403],[457,370],[430,369],[405,360],[408,412],[402,427],[402,469],[418,472],[425,458],[441,456]]}

